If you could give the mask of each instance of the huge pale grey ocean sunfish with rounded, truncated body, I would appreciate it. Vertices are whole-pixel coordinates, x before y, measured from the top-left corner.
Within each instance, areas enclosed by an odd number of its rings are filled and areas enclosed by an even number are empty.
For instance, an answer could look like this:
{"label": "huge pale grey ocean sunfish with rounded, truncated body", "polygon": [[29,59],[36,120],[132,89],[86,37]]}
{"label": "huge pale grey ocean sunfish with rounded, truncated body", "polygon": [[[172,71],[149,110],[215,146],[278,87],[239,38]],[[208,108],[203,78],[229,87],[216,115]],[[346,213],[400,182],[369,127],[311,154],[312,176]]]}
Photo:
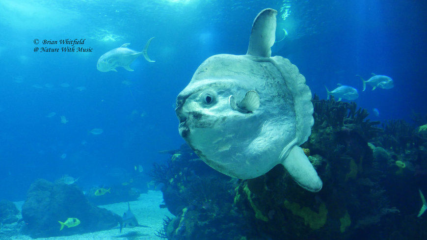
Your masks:
{"label": "huge pale grey ocean sunfish with rounded, truncated body", "polygon": [[271,57],[276,14],[258,14],[245,55],[213,55],[198,67],[176,100],[179,133],[221,173],[251,179],[283,164],[315,192],[322,182],[299,147],[314,122],[311,91],[288,59]]}

